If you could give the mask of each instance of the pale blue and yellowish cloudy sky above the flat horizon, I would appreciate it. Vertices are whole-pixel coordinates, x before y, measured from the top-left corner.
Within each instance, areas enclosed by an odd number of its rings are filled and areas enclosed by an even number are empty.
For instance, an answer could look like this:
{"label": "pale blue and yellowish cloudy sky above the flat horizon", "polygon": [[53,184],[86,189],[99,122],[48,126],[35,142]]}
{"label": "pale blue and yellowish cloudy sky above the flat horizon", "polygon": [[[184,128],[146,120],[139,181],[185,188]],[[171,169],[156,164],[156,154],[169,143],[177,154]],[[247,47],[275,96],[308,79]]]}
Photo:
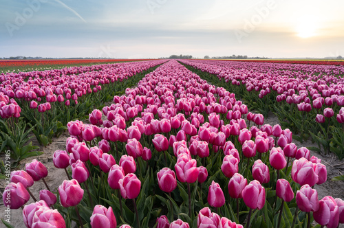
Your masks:
{"label": "pale blue and yellowish cloudy sky above the flat horizon", "polygon": [[344,56],[342,0],[2,0],[0,57]]}

